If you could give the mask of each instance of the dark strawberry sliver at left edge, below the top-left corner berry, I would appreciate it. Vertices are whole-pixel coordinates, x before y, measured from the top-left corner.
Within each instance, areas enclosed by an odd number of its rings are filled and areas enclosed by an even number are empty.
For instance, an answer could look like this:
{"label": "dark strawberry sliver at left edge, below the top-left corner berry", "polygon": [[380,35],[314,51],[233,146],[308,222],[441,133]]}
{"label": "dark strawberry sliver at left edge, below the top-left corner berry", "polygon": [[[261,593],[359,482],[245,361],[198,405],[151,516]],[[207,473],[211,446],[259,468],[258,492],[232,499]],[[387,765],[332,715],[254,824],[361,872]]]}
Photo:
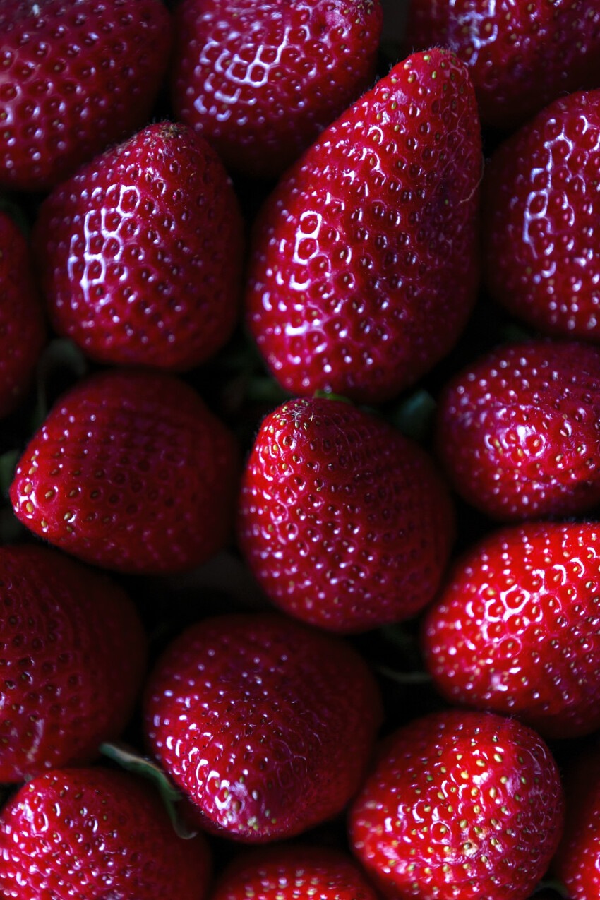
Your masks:
{"label": "dark strawberry sliver at left edge, below the top-left corner berry", "polygon": [[0,417],[29,388],[45,338],[27,242],[0,211]]}

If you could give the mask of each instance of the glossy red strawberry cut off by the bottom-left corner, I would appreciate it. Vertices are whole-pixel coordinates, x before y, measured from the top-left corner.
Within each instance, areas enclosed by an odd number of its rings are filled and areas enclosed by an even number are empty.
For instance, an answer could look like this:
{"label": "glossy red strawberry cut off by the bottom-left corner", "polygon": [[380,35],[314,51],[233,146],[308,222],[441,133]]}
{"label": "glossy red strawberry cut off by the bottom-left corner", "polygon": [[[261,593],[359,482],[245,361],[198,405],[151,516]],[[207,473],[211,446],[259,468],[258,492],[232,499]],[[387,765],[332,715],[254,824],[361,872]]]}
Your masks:
{"label": "glossy red strawberry cut off by the bottom-left corner", "polygon": [[204,840],[178,838],[147,782],[64,769],[30,781],[0,817],[6,900],[202,900]]}

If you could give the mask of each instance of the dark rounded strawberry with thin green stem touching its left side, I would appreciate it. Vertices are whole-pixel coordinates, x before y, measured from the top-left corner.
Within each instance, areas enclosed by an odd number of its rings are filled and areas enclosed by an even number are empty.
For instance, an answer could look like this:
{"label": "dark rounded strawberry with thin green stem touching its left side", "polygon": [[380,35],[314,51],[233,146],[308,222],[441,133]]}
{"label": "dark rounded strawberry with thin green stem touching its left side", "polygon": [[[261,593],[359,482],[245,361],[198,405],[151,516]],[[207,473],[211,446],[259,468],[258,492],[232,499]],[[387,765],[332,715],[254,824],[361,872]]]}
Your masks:
{"label": "dark rounded strawberry with thin green stem touching its left side", "polygon": [[204,827],[245,842],[341,813],[370,759],[381,701],[361,657],[291,619],[207,619],[148,683],[148,743]]}

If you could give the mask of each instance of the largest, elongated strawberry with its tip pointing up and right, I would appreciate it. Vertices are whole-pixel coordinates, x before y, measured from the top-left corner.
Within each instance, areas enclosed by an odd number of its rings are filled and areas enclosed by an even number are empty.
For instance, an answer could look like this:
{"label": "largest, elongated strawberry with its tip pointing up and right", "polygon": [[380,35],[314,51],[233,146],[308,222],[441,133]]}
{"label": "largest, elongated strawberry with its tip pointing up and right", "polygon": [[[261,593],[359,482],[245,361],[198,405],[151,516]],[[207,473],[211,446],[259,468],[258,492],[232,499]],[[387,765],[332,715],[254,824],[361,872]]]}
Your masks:
{"label": "largest, elongated strawberry with its tip pointing up and right", "polygon": [[384,401],[448,352],[477,287],[480,172],[469,76],[442,50],[323,132],[255,229],[248,323],[286,390]]}

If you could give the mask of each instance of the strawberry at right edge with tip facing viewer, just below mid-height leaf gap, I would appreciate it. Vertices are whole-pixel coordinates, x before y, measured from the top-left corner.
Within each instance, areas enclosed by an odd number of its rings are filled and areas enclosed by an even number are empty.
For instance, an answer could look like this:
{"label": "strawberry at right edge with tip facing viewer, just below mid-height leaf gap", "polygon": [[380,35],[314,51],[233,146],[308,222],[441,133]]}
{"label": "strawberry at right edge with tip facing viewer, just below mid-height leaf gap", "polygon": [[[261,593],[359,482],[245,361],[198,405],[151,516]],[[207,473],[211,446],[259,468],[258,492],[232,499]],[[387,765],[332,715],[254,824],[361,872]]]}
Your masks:
{"label": "strawberry at right edge with tip facing viewer, just below mid-height leaf gap", "polygon": [[499,347],[447,385],[437,431],[453,486],[491,518],[590,509],[600,500],[600,352]]}

